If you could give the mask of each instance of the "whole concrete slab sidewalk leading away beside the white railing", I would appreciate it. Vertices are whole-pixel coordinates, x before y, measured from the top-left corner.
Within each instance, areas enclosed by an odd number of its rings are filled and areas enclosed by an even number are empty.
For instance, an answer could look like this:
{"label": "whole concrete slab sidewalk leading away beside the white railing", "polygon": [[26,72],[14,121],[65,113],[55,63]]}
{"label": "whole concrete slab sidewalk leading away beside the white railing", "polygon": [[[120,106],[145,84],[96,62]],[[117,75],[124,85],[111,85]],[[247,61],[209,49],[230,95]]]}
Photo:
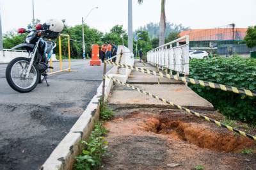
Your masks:
{"label": "whole concrete slab sidewalk leading away beside the white railing", "polygon": [[[145,67],[150,70],[157,70],[156,67],[145,63],[135,61],[134,66]],[[180,81],[172,79],[161,78],[160,84],[158,84],[158,77],[155,75],[148,75],[142,72],[136,72],[133,70],[129,79],[128,84],[132,84],[137,88],[143,89],[149,93],[157,95],[158,97],[164,98],[178,105],[188,107],[191,109],[202,109],[202,110],[213,110],[213,106],[210,102],[197,95],[188,86]],[[109,97],[110,105],[122,106],[150,106],[150,107],[170,107],[171,105],[164,104],[161,101],[157,101],[155,98],[143,95],[136,90],[127,88],[116,84],[113,88],[113,93]]]}

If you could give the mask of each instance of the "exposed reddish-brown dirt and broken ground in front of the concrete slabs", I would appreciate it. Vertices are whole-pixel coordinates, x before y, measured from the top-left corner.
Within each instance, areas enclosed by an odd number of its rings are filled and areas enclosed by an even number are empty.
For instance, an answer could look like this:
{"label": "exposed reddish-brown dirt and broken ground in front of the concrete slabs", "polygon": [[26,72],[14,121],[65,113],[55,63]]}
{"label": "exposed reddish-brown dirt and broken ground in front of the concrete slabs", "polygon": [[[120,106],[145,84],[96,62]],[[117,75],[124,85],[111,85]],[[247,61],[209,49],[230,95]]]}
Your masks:
{"label": "exposed reddish-brown dirt and broken ground in front of the concrete slabs", "polygon": [[[102,169],[255,169],[256,144],[184,112],[116,109]],[[218,114],[207,114],[211,118]],[[241,153],[250,148],[253,153]],[[175,167],[171,167],[175,165]]]}

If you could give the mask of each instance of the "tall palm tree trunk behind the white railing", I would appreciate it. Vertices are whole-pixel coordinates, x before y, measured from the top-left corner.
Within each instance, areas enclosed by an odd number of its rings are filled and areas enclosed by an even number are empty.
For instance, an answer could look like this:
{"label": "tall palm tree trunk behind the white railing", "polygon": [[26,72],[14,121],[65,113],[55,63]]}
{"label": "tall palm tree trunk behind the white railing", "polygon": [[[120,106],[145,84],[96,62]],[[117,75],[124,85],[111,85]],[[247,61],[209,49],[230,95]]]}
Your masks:
{"label": "tall palm tree trunk behind the white railing", "polygon": [[[143,0],[138,0],[139,4],[143,3]],[[159,46],[164,44],[166,28],[166,16],[165,16],[165,0],[161,0],[161,17],[159,24]]]}

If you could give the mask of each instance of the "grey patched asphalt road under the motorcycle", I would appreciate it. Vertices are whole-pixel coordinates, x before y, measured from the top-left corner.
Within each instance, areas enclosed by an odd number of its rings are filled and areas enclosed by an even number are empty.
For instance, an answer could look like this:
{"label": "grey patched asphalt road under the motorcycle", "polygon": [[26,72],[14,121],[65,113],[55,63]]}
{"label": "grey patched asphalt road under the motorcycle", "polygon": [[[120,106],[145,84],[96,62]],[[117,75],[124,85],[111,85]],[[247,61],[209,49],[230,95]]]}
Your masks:
{"label": "grey patched asphalt road under the motorcycle", "polygon": [[5,68],[0,64],[0,169],[38,169],[95,95],[103,66],[72,61],[77,72],[51,75],[49,87],[43,82],[30,93],[8,86]]}

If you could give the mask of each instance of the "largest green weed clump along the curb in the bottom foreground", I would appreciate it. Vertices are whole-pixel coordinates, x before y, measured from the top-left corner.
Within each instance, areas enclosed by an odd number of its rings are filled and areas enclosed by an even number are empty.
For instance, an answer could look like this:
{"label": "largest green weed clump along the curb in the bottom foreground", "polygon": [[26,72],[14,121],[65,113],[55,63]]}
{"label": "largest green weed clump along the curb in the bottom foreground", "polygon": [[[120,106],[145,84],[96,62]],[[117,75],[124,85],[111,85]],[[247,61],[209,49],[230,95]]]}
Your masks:
{"label": "largest green weed clump along the curb in the bottom foreground", "polygon": [[76,157],[75,169],[95,169],[101,166],[102,157],[108,151],[108,142],[104,138],[107,133],[108,130],[103,127],[102,123],[95,124],[88,140],[81,141],[84,149],[82,154]]}

